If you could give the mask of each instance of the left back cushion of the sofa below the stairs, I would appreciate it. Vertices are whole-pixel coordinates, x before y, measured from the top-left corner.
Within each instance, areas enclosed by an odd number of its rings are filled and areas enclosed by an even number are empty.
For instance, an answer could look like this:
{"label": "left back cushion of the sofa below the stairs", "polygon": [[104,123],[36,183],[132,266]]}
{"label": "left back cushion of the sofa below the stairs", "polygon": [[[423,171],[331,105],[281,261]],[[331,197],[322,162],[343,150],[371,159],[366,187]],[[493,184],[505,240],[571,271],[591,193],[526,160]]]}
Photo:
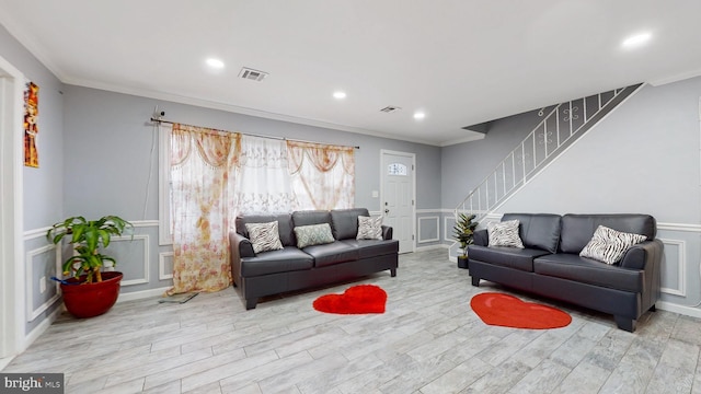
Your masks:
{"label": "left back cushion of the sofa below the stairs", "polygon": [[504,213],[502,221],[518,220],[519,235],[525,247],[558,252],[560,243],[560,215],[554,213]]}

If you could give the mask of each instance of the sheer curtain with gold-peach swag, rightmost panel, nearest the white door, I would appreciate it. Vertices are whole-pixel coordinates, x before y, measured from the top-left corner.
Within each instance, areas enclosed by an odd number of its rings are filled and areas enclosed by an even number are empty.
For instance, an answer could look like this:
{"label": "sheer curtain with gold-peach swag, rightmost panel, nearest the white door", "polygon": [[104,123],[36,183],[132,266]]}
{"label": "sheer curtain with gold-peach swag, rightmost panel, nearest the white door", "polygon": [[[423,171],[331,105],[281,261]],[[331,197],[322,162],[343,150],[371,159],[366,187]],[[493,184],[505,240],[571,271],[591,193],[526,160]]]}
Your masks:
{"label": "sheer curtain with gold-peach swag, rightmost panel, nearest the white door", "polygon": [[353,208],[354,148],[287,141],[287,151],[298,209]]}

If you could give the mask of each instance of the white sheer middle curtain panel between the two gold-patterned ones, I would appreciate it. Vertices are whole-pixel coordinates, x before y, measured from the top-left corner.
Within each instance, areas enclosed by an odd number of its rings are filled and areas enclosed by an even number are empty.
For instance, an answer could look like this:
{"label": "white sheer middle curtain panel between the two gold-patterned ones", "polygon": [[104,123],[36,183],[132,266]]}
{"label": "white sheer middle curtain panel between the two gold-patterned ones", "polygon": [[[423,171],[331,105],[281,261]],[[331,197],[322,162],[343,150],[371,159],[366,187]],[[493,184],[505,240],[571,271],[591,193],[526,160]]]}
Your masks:
{"label": "white sheer middle curtain panel between the two gold-patterned ones", "polygon": [[243,136],[241,147],[233,217],[295,210],[297,205],[290,187],[285,141]]}

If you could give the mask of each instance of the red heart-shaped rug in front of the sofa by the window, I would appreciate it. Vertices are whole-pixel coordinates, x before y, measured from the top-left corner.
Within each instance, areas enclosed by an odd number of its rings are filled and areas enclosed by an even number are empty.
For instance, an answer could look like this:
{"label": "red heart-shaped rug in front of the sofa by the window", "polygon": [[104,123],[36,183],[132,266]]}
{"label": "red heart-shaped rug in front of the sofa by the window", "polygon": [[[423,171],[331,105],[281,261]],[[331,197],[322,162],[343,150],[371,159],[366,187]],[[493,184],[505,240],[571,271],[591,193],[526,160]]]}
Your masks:
{"label": "red heart-shaped rug in front of the sofa by the window", "polygon": [[326,294],[314,300],[319,312],[337,314],[384,313],[387,292],[375,285],[358,285],[343,294]]}

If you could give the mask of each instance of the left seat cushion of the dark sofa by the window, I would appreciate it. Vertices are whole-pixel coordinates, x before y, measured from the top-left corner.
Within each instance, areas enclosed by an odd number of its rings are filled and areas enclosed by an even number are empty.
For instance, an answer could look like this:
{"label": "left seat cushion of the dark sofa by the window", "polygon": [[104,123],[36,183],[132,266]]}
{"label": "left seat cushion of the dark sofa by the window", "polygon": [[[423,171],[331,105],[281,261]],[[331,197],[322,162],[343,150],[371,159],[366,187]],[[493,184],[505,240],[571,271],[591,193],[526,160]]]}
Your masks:
{"label": "left seat cushion of the dark sofa by the window", "polygon": [[263,252],[255,257],[242,257],[241,276],[255,277],[311,269],[313,265],[314,259],[307,253],[295,246],[285,246],[279,251]]}

